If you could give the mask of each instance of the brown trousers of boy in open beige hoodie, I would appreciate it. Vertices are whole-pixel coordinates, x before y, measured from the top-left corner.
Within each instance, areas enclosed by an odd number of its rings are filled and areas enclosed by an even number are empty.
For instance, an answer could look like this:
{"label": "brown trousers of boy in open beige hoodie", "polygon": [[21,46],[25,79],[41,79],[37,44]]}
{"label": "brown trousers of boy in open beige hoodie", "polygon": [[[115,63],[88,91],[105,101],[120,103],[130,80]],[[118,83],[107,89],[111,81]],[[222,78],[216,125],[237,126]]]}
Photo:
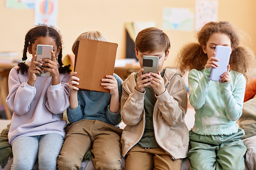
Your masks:
{"label": "brown trousers of boy in open beige hoodie", "polygon": [[162,148],[138,146],[131,148],[125,158],[125,170],[180,170],[183,161],[173,161]]}

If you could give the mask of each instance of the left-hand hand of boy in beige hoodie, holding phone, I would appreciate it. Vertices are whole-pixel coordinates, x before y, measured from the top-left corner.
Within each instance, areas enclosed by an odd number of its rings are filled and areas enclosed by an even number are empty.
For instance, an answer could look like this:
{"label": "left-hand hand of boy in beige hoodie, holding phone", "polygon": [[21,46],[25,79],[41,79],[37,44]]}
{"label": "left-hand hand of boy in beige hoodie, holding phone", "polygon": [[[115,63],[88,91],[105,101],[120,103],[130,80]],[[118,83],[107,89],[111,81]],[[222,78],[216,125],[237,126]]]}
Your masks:
{"label": "left-hand hand of boy in beige hoodie, holding phone", "polygon": [[135,89],[137,91],[139,91],[140,93],[143,93],[144,91],[144,88],[147,86],[147,85],[150,85],[151,84],[151,80],[152,78],[149,78],[150,74],[149,73],[146,73],[146,74],[142,74],[143,72],[143,68],[140,69],[140,71],[138,72],[138,78],[137,78],[137,82],[136,82],[136,86],[135,86]]}

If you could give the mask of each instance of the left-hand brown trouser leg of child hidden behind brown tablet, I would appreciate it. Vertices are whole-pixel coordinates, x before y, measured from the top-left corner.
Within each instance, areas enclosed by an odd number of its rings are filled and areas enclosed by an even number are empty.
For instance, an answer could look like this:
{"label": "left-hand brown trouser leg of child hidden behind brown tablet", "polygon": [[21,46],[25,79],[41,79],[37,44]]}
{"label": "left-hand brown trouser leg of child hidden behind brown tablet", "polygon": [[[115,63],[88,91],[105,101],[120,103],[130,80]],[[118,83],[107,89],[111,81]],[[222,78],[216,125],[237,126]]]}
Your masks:
{"label": "left-hand brown trouser leg of child hidden behind brown tablet", "polygon": [[57,159],[58,170],[79,170],[85,153],[90,149],[93,120],[81,120],[70,125]]}

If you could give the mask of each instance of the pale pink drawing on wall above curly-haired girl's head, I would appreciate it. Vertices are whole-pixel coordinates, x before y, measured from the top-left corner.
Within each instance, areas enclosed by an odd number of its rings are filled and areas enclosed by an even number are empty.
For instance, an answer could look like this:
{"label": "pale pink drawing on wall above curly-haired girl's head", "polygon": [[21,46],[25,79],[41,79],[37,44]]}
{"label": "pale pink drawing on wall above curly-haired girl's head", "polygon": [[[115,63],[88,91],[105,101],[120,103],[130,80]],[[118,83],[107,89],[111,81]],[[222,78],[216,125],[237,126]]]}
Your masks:
{"label": "pale pink drawing on wall above curly-haired girl's head", "polygon": [[210,21],[218,20],[217,0],[197,0],[195,1],[195,29],[202,28]]}

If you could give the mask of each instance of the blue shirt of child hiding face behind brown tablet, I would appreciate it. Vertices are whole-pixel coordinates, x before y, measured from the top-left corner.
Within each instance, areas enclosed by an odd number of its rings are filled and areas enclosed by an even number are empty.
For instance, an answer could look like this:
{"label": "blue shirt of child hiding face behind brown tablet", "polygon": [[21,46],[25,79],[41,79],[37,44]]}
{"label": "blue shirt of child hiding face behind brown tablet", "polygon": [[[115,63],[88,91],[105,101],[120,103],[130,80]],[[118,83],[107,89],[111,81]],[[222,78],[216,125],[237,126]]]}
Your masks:
{"label": "blue shirt of child hiding face behind brown tablet", "polygon": [[[122,79],[113,74],[117,80],[119,103],[122,96]],[[78,107],[70,110],[67,108],[67,119],[70,123],[77,122],[82,119],[100,120],[110,125],[118,125],[121,121],[120,109],[118,113],[112,113],[109,110],[111,94],[98,91],[78,91],[77,92]]]}

